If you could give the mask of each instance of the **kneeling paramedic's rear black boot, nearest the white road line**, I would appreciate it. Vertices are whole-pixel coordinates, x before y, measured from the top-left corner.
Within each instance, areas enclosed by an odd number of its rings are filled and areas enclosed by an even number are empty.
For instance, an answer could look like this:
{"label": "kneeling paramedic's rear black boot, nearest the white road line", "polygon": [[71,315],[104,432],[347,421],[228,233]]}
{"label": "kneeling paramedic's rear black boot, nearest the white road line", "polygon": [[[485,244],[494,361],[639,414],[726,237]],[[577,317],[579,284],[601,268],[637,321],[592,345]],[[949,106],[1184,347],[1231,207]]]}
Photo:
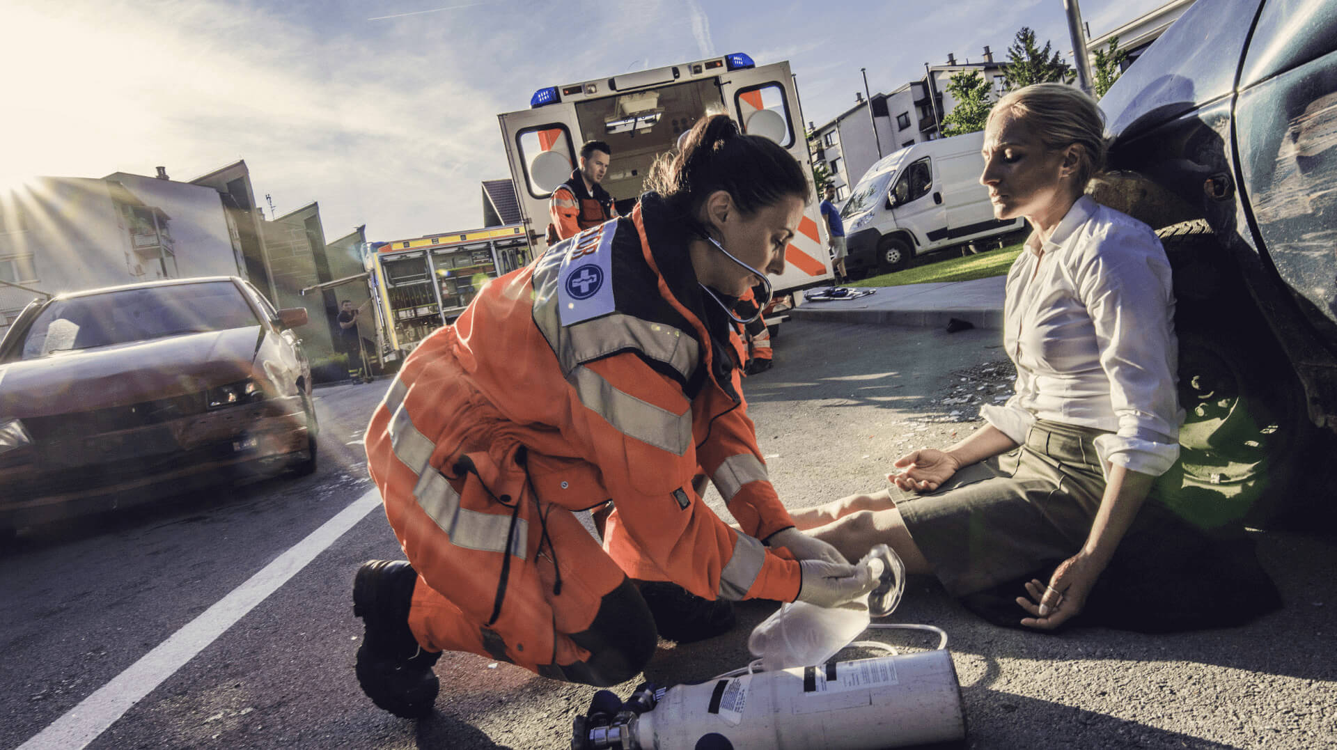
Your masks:
{"label": "kneeling paramedic's rear black boot, nearest the white road line", "polygon": [[357,648],[357,682],[373,703],[406,719],[432,713],[441,684],[432,666],[441,652],[424,651],[409,630],[417,571],[402,560],[362,563],[353,579],[353,614],[366,627]]}

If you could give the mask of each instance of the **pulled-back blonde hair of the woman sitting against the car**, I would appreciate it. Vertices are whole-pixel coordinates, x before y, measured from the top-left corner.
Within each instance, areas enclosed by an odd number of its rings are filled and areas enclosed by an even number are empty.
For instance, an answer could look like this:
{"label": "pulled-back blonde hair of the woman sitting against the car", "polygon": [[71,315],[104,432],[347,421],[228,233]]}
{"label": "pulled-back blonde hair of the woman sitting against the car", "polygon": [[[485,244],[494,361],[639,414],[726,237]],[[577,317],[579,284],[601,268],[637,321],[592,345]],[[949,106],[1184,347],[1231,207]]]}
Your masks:
{"label": "pulled-back blonde hair of the woman sitting against the car", "polygon": [[1080,88],[1062,83],[1036,83],[1005,94],[993,104],[988,122],[1005,114],[1025,118],[1048,148],[1082,147],[1078,166],[1078,189],[1104,168],[1107,144],[1104,115],[1095,99]]}

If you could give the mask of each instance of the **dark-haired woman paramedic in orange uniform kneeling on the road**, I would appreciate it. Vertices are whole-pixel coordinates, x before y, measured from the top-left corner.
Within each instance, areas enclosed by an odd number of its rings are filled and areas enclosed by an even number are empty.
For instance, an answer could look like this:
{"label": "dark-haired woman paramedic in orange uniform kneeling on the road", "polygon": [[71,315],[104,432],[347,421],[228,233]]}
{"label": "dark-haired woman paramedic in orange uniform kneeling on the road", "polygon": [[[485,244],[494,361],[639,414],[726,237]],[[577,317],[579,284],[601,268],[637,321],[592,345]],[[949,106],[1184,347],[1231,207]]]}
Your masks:
{"label": "dark-haired woman paramedic in orange uniform kneeling on the road", "polygon": [[[488,285],[405,360],[366,432],[409,561],[354,579],[357,676],[432,710],[440,652],[608,686],[658,643],[632,579],[834,606],[876,584],[797,531],[757,448],[729,310],[804,215],[798,163],[723,115],[655,163],[630,217]],[[709,475],[743,533],[693,487]],[[614,511],[599,543],[574,511]]]}

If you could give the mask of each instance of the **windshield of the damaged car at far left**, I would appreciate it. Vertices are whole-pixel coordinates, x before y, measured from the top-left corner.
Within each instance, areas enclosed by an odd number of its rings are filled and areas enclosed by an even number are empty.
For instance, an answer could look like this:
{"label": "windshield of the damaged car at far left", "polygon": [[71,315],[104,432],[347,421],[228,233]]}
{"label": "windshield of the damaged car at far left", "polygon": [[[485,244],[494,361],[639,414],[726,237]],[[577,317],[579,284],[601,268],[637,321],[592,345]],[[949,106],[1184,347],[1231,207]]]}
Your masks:
{"label": "windshield of the damaged car at far left", "polygon": [[259,325],[229,281],[150,286],[52,302],[23,342],[23,358]]}

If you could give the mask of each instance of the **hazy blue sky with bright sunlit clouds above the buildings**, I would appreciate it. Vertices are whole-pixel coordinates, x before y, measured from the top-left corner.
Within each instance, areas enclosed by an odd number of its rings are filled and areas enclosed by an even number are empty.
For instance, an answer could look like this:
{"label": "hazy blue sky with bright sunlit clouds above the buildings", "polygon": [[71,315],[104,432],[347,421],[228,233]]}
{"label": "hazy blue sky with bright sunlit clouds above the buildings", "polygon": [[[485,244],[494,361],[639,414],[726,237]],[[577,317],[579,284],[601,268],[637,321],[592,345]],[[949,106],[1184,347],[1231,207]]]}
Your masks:
{"label": "hazy blue sky with bright sunlit clouds above the buildings", "polygon": [[[1087,0],[1094,36],[1163,0]],[[318,201],[325,237],[483,223],[509,176],[496,115],[535,90],[746,52],[789,60],[805,122],[924,63],[996,60],[1023,25],[1067,55],[1063,0],[0,0],[0,187],[238,159],[269,217]]]}

